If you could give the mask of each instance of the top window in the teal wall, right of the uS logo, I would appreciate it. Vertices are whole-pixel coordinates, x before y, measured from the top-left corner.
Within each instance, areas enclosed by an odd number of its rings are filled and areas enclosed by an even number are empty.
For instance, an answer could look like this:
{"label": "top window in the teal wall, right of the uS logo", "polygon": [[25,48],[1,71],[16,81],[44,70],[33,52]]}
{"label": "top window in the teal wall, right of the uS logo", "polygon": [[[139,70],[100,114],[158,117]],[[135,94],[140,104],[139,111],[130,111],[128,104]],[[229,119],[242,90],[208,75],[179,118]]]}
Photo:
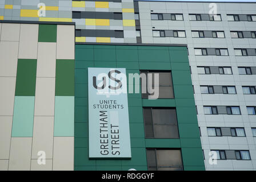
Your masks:
{"label": "top window in the teal wall, right of the uS logo", "polygon": [[[142,93],[142,98],[155,98],[158,96],[158,98],[174,98],[173,94],[173,80],[171,78],[171,72],[157,72],[157,71],[141,71],[141,73],[145,73],[147,75],[147,81],[146,84],[142,85],[146,86],[146,88],[142,88],[143,90],[147,90],[146,93]],[[152,75],[152,80],[149,79],[149,74]],[[159,76],[159,82],[158,82],[158,88],[157,85],[154,85],[154,74],[158,74]],[[153,90],[149,90],[148,88],[151,88],[151,85],[149,81],[152,81],[152,87],[154,89],[157,89],[159,92],[158,94],[153,93]],[[153,89],[152,88],[152,89]]]}

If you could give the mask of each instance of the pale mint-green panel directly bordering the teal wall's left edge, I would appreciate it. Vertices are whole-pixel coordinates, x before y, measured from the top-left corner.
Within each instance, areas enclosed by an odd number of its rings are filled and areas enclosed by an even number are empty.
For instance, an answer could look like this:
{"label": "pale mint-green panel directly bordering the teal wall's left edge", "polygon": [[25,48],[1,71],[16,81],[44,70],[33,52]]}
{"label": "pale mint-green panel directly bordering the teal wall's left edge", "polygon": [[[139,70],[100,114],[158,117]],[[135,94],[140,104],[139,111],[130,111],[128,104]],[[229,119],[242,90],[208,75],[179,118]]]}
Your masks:
{"label": "pale mint-green panel directly bordering the teal wall's left edge", "polygon": [[74,96],[55,96],[54,137],[74,136]]}

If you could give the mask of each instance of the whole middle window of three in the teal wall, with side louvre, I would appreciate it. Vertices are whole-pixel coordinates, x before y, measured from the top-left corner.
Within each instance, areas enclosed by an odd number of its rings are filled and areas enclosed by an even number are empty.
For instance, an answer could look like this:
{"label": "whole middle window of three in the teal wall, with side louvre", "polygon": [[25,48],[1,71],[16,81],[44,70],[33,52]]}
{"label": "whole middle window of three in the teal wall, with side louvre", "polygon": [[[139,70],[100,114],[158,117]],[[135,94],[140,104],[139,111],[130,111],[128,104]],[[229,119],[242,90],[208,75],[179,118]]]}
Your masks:
{"label": "whole middle window of three in the teal wall, with side louvre", "polygon": [[143,108],[146,138],[179,138],[175,109]]}

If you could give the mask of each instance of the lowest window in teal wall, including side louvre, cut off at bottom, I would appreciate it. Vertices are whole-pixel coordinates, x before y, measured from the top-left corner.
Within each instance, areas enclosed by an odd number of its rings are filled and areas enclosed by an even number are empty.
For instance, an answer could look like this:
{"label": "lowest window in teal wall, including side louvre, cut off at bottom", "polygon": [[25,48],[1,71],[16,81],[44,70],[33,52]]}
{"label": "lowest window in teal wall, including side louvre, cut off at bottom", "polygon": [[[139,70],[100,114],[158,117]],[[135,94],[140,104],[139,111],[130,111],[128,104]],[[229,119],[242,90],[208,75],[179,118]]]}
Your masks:
{"label": "lowest window in teal wall, including side louvre, cut off at bottom", "polygon": [[147,168],[149,171],[182,171],[181,150],[147,148]]}

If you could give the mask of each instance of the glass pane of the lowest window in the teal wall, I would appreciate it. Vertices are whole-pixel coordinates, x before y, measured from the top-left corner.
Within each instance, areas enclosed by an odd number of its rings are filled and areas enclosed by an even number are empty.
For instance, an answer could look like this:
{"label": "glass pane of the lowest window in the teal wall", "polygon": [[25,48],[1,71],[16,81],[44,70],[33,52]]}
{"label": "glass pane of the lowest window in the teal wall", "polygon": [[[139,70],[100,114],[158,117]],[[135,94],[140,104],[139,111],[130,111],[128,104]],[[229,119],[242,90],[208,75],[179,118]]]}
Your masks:
{"label": "glass pane of the lowest window in the teal wall", "polygon": [[157,150],[157,166],[183,167],[180,150]]}

